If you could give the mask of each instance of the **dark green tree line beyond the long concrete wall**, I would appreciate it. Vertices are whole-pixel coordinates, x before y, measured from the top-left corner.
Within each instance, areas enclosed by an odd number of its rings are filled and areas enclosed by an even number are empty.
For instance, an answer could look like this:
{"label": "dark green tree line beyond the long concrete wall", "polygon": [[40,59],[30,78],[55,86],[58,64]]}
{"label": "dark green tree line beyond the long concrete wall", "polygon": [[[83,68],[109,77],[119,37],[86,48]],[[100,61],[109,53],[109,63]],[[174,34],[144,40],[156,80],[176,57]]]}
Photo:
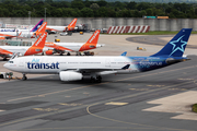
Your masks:
{"label": "dark green tree line beyond the long concrete wall", "polygon": [[[45,9],[46,8],[46,9]],[[105,0],[0,0],[1,17],[142,17],[197,19],[196,3],[106,2]]]}

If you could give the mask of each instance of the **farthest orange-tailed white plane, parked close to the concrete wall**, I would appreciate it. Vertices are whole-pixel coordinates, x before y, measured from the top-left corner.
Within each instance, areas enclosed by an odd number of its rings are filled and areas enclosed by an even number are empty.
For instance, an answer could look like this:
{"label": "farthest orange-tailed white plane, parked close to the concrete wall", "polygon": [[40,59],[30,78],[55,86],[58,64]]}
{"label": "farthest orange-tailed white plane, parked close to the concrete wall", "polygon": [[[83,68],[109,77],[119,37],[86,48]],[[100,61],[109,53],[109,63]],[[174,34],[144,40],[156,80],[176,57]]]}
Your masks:
{"label": "farthest orange-tailed white plane, parked close to the concrete wall", "polygon": [[77,21],[78,21],[78,19],[74,19],[68,26],[50,26],[50,25],[47,25],[46,31],[48,32],[48,34],[57,33],[57,32],[73,31],[73,29],[76,29]]}

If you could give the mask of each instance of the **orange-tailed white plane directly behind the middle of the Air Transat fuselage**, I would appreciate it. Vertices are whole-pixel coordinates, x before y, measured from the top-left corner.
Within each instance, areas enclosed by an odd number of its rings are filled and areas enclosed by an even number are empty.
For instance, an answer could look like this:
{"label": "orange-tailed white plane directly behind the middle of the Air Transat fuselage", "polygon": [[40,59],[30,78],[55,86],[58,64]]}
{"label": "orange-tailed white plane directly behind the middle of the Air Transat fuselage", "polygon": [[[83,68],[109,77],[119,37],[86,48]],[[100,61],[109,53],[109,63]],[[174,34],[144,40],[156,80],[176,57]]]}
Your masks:
{"label": "orange-tailed white plane directly behind the middle of the Air Transat fuselage", "polygon": [[53,55],[55,52],[58,52],[60,55],[68,52],[68,56],[70,52],[80,52],[85,51],[90,49],[95,49],[99,47],[103,47],[104,45],[97,44],[100,36],[100,31],[95,31],[94,34],[90,37],[90,39],[86,43],[46,43],[45,48],[50,48],[45,53],[46,55]]}

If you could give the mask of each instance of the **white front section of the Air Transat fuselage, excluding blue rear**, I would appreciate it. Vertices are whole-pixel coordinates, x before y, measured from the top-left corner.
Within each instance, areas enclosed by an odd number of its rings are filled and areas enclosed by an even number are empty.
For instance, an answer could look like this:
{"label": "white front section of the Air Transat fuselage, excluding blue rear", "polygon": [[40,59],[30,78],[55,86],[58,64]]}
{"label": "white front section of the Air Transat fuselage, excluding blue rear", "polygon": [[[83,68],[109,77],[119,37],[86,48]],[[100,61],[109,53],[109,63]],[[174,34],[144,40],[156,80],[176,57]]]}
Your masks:
{"label": "white front section of the Air Transat fuselage, excluding blue rear", "polygon": [[[7,69],[22,73],[51,73],[56,74],[67,70],[97,70],[100,73],[106,71],[121,70],[123,67],[132,64],[131,59],[127,57],[38,57],[27,56],[10,60],[4,64]],[[138,71],[130,66],[132,71]],[[96,72],[96,71],[95,71]]]}

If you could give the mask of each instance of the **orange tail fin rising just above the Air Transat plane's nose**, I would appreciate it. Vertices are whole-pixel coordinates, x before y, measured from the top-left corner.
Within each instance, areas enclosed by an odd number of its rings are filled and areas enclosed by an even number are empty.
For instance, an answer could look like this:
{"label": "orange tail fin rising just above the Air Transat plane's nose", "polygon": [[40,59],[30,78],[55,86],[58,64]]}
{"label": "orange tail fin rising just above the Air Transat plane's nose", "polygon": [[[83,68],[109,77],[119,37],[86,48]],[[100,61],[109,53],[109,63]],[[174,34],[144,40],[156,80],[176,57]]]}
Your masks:
{"label": "orange tail fin rising just above the Air Transat plane's nose", "polygon": [[46,36],[47,36],[46,32],[44,34],[42,34],[39,36],[39,38],[37,38],[37,40],[34,43],[34,45],[26,50],[24,56],[35,55],[35,53],[43,52],[43,48],[45,46]]}

